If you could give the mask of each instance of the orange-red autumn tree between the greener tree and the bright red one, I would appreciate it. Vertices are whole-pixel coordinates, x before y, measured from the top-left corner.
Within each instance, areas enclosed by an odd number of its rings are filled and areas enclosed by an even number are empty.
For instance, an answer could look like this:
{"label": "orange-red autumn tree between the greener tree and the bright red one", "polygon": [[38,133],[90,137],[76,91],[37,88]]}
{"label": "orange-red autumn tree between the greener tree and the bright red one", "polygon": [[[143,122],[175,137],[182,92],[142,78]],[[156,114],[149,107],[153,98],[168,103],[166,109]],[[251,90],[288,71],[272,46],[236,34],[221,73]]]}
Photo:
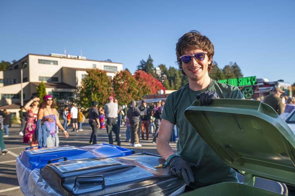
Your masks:
{"label": "orange-red autumn tree between the greener tree and the bright red one", "polygon": [[119,105],[129,104],[132,99],[140,100],[138,81],[128,70],[121,71],[113,79],[113,86]]}

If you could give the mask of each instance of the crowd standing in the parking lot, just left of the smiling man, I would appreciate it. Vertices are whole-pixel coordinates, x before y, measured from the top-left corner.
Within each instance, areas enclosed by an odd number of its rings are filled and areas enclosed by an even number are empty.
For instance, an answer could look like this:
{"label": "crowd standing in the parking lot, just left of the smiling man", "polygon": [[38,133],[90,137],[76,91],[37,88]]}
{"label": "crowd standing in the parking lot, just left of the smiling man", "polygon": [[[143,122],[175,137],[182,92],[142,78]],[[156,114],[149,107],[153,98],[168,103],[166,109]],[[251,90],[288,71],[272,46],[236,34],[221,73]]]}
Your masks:
{"label": "crowd standing in the parking lot, just left of the smiling man", "polygon": [[[89,110],[89,125],[92,129],[89,144],[97,143],[97,129],[106,128],[109,143],[113,144],[112,133],[115,134],[115,141],[121,146],[120,127],[126,126],[125,142],[130,142],[130,146],[141,147],[139,136],[142,140],[150,140],[150,134],[153,135],[153,143],[156,143],[158,130],[161,121],[161,114],[165,100],[148,103],[142,100],[140,104],[132,100],[129,105],[118,105],[118,100],[114,97],[108,97],[108,103],[103,107],[98,107],[97,102],[92,103]],[[177,128],[175,134],[171,137],[171,142],[177,142]]]}

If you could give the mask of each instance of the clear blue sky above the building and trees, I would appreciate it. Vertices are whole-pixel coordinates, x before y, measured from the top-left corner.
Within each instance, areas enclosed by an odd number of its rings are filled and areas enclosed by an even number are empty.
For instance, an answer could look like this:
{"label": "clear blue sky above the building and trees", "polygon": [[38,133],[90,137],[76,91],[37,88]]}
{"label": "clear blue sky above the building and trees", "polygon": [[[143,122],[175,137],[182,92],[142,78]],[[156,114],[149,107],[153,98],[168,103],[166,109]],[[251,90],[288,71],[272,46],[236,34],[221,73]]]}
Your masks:
{"label": "clear blue sky above the building and trees", "polygon": [[0,60],[67,53],[123,63],[132,73],[150,54],[175,64],[177,39],[208,36],[223,68],[295,82],[295,1],[0,1]]}

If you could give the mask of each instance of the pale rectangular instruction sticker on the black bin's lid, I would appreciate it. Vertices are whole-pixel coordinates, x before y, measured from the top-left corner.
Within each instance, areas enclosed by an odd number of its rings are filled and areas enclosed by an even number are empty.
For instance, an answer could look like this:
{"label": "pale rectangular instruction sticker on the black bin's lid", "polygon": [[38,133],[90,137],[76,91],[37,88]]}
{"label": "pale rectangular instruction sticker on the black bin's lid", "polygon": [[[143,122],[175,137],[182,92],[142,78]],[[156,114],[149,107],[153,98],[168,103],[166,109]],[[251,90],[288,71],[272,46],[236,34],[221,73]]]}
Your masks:
{"label": "pale rectangular instruction sticker on the black bin's lid", "polygon": [[70,172],[74,170],[80,169],[87,169],[91,167],[103,166],[103,165],[115,165],[121,164],[120,162],[114,159],[80,159],[80,160],[71,160],[66,162],[58,162],[53,163],[52,165],[55,166],[61,172]]}

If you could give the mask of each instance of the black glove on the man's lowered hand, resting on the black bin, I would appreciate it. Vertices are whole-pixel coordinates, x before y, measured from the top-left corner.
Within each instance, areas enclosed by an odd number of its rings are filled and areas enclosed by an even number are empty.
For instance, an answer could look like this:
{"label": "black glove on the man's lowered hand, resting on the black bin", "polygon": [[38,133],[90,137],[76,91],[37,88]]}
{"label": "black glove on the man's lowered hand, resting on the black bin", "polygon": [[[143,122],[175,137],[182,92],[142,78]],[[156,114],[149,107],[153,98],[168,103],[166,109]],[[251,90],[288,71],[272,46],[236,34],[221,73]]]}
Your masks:
{"label": "black glove on the man's lowered hand, resting on the black bin", "polygon": [[180,179],[189,185],[189,183],[194,182],[194,175],[192,169],[189,165],[180,157],[175,156],[169,160],[170,173],[174,176],[178,176]]}

